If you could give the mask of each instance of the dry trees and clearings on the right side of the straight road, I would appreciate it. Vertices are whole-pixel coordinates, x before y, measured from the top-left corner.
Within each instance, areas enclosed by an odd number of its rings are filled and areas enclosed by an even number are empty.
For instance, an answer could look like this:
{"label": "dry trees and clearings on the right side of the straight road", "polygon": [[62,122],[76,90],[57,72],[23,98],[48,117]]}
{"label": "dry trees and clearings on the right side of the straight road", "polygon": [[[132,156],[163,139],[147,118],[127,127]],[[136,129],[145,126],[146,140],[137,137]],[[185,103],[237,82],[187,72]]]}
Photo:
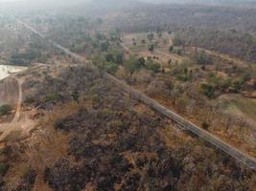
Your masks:
{"label": "dry trees and clearings on the right side of the straight road", "polygon": [[[48,21],[34,22],[40,29]],[[233,94],[244,99],[254,97],[256,73],[252,64],[190,47],[182,32],[167,31],[167,26],[123,34],[120,29],[101,32],[105,21],[85,16],[64,17],[61,21],[57,17],[52,22],[55,25],[48,25],[46,35],[91,59],[100,71],[126,80],[181,116],[193,118],[198,126],[256,155],[256,145],[251,144],[256,138],[251,137],[254,117],[242,110],[244,116],[238,119],[219,102],[219,97]],[[63,41],[65,36],[69,38]],[[76,51],[74,45],[83,48]]]}

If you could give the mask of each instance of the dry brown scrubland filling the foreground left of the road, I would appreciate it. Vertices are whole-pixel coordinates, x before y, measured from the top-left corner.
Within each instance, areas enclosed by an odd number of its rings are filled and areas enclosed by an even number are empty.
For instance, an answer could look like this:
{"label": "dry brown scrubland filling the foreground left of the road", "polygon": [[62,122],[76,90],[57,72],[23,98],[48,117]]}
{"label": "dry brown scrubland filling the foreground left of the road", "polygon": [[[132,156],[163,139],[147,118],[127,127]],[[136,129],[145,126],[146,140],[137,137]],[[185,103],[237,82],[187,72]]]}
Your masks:
{"label": "dry brown scrubland filling the foreground left of the road", "polygon": [[[53,74],[51,70],[56,69],[46,70]],[[25,86],[37,90],[31,106],[46,101],[49,92],[58,92],[62,98],[43,108],[51,113],[42,117],[43,131],[35,131],[35,139],[2,150],[3,190],[33,190],[36,182],[53,190],[255,186],[252,171],[198,138],[178,133],[172,121],[123,94],[98,70],[61,67],[55,78],[48,76],[39,82],[31,77]],[[75,90],[79,104],[69,94]],[[13,175],[13,170],[19,173]]]}

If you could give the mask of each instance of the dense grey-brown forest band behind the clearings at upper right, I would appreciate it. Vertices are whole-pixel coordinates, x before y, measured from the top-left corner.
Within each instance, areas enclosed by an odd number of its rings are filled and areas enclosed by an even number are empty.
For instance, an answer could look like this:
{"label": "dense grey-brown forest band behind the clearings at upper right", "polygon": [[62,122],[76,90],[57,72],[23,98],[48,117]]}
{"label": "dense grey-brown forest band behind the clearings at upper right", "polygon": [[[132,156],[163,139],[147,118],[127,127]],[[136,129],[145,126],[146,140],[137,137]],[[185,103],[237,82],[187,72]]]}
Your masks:
{"label": "dense grey-brown forest band behind the clearings at upper right", "polygon": [[256,62],[256,38],[250,33],[200,28],[184,29],[177,33],[183,46],[204,48],[238,57],[247,62]]}

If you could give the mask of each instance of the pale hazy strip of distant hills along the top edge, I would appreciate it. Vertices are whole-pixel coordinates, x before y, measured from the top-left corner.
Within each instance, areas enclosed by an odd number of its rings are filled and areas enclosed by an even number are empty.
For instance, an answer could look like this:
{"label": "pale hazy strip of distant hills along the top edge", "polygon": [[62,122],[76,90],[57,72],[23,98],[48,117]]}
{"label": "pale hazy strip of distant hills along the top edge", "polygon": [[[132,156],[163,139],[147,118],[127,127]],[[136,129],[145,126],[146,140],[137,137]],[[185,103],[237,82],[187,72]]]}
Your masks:
{"label": "pale hazy strip of distant hills along the top edge", "polygon": [[101,14],[105,11],[120,11],[146,4],[204,4],[226,5],[256,8],[256,0],[13,0],[1,3],[1,13],[20,13],[37,11],[68,11],[70,13],[86,12]]}

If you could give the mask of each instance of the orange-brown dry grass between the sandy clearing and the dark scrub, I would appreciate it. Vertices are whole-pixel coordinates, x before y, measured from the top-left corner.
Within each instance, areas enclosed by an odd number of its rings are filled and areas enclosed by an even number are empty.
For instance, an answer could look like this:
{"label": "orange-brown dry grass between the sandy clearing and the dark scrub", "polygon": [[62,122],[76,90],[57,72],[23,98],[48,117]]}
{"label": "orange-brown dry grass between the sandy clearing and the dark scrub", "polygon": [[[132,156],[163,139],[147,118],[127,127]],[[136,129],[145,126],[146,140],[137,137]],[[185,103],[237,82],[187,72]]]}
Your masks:
{"label": "orange-brown dry grass between the sandy clearing and the dark scrub", "polygon": [[[69,150],[70,134],[64,134],[55,130],[55,123],[59,118],[68,117],[78,112],[84,104],[79,106],[75,102],[69,102],[57,106],[39,121],[39,127],[33,132],[32,137],[16,143],[17,157],[5,177],[7,186],[12,189],[20,182],[21,177],[30,169],[35,169],[35,190],[51,190],[43,181],[46,167],[52,167],[59,159],[67,156]],[[12,144],[12,147],[14,144]],[[22,152],[22,153],[19,153]],[[12,181],[11,181],[12,180]]]}

